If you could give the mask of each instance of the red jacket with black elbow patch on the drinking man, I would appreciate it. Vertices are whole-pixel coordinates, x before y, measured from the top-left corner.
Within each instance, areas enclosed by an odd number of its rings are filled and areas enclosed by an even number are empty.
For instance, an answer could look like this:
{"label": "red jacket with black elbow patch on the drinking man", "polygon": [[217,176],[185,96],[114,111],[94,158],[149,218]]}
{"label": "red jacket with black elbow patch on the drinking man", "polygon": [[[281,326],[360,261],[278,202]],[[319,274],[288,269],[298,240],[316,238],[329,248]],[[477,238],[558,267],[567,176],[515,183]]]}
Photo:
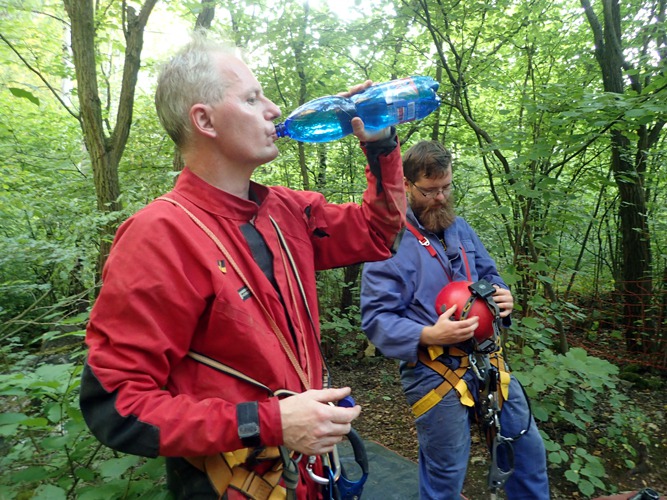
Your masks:
{"label": "red jacket with black elbow patch on the drinking man", "polygon": [[[370,188],[361,206],[252,183],[256,203],[207,184],[187,168],[165,195],[193,212],[227,248],[285,333],[311,388],[322,386],[315,271],[388,258],[404,224],[399,148],[380,156],[380,166],[380,190],[366,168]],[[294,276],[269,216],[296,261],[315,330],[298,289],[286,285],[288,277],[295,283]],[[249,221],[273,256],[280,297],[240,231]],[[243,447],[236,403],[259,401],[262,444],[282,444],[276,397],[186,356],[191,350],[204,354],[273,391],[305,390],[256,298],[181,208],[157,200],[123,223],[103,283],[86,334],[81,387],[84,417],[102,442],[144,456],[236,450]]]}

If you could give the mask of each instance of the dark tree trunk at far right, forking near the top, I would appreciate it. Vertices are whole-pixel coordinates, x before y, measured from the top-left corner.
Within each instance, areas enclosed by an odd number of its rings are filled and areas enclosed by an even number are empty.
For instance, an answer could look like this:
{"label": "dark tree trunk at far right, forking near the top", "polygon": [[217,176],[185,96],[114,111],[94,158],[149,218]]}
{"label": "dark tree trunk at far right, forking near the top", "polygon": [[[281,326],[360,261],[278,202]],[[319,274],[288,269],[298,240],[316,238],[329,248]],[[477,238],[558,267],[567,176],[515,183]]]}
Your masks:
{"label": "dark tree trunk at far right, forking near the top", "polygon": [[[628,3],[625,16],[618,0],[603,0],[602,20],[589,0],[581,0],[595,41],[604,90],[613,94],[635,94],[644,100],[664,94],[665,85],[651,87],[664,76],[667,63],[665,0]],[[634,11],[633,11],[634,10]],[[637,25],[636,23],[641,23]],[[625,29],[625,31],[624,31]],[[626,54],[627,41],[634,39],[634,57]],[[637,43],[639,42],[639,43]],[[623,265],[618,288],[623,295],[625,340],[630,350],[639,346],[636,322],[652,315],[651,235],[647,221],[645,173],[648,155],[665,126],[664,115],[634,120],[624,114],[611,129],[611,169],[620,197],[619,217]],[[634,138],[634,141],[633,141]]]}

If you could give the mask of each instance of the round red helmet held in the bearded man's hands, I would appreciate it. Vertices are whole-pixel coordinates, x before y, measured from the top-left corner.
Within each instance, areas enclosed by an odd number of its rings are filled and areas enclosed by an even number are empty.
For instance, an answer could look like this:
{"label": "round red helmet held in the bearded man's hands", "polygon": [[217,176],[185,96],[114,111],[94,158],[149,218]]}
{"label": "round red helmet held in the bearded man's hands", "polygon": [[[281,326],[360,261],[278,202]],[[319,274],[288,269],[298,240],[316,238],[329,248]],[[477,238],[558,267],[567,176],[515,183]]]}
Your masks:
{"label": "round red helmet held in the bearded man's hands", "polygon": [[463,319],[471,316],[479,318],[479,326],[475,330],[474,337],[478,343],[482,343],[493,337],[495,316],[486,300],[473,295],[468,288],[469,285],[472,285],[472,281],[452,281],[445,285],[435,299],[435,309],[438,314],[442,314],[456,304],[456,311],[454,311],[451,319],[458,321],[461,319],[461,314],[463,314],[468,300],[472,297],[470,309],[465,313]]}

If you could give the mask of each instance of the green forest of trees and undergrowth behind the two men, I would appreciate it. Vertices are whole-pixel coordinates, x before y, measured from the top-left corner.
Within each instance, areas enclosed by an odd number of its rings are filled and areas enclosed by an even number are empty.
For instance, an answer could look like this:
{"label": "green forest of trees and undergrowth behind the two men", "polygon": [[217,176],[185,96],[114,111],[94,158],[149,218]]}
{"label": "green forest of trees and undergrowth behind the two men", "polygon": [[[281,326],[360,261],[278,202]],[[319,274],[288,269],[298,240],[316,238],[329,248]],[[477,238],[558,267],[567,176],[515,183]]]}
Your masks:
{"label": "green forest of trees and undergrowth behind the two men", "polygon": [[[153,89],[195,26],[243,47],[284,115],[365,79],[440,82],[400,139],[453,152],[458,212],[515,295],[505,344],[550,473],[614,491],[605,454],[633,470],[665,433],[626,394],[667,367],[666,3],[0,1],[0,498],[166,496],[160,461],[101,447],[76,396],[114,231],[182,168]],[[255,180],[360,202],[354,138],[279,148]],[[318,275],[338,365],[367,351],[359,273]]]}

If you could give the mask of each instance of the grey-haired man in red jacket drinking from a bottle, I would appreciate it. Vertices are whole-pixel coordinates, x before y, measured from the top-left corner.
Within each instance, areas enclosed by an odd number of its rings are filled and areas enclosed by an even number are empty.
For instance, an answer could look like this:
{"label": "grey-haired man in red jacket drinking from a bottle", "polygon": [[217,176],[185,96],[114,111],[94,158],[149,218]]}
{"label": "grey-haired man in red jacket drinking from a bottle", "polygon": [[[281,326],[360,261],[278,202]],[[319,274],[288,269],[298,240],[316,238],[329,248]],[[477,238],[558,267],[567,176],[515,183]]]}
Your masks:
{"label": "grey-haired man in red jacket drinking from a bottle", "polygon": [[307,458],[292,488],[276,457],[330,452],[361,408],[329,404],[349,388],[323,388],[315,271],[392,254],[405,217],[395,132],[353,120],[369,187],[362,205],[335,205],[250,180],[278,155],[280,110],[231,49],[195,37],[155,102],[186,167],[114,240],[86,335],[86,422],[116,450],[168,457],[177,498],[316,498]]}

